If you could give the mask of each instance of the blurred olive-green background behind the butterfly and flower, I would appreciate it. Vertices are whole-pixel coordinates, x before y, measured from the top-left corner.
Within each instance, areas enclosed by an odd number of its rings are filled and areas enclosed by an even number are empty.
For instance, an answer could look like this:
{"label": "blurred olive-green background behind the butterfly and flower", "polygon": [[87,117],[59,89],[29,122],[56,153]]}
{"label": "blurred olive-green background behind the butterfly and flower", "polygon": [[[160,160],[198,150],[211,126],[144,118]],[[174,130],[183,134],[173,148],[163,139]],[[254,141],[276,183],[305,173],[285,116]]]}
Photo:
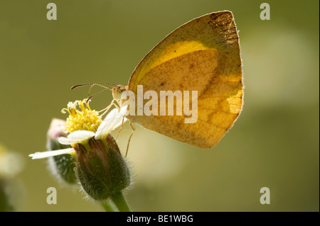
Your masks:
{"label": "blurred olive-green background behind the butterfly and flower", "polygon": [[[48,21],[48,3],[58,20]],[[319,1],[0,1],[0,143],[21,153],[20,211],[101,211],[61,186],[46,160],[52,118],[85,98],[86,82],[127,85],[134,67],[172,30],[203,14],[230,10],[240,30],[245,105],[230,132],[199,149],[138,128],[126,193],[135,211],[319,211]],[[95,91],[99,90],[98,88]],[[102,109],[105,92],[92,101]],[[129,128],[129,125],[126,125]],[[131,131],[121,133],[126,149]],[[58,190],[48,205],[48,187]],[[271,192],[260,204],[260,188]]]}

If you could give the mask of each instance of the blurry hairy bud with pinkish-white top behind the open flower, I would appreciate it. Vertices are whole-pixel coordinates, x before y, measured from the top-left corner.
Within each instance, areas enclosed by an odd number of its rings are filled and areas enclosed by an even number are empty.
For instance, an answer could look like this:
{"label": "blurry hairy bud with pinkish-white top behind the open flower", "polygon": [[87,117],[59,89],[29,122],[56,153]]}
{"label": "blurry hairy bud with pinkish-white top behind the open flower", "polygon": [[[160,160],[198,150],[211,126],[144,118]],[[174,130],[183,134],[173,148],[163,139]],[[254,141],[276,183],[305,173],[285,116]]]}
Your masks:
{"label": "blurry hairy bud with pinkish-white top behind the open flower", "polygon": [[[47,134],[47,149],[48,151],[64,149],[70,145],[61,145],[58,142],[58,137],[66,137],[67,134],[63,132],[65,128],[65,120],[53,118],[50,123],[50,128]],[[55,176],[58,176],[60,181],[73,184],[76,182],[75,177],[75,157],[71,154],[60,154],[49,158],[49,165],[51,171]]]}

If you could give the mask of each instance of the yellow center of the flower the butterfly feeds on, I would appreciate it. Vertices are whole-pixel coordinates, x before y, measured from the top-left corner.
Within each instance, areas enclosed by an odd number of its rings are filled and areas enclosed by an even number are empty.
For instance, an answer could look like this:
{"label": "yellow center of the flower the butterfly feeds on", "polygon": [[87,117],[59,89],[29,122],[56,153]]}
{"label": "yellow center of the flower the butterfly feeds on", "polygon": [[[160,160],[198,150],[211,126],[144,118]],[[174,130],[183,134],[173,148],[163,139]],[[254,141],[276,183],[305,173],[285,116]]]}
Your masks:
{"label": "yellow center of the flower the butterfly feeds on", "polygon": [[[77,109],[77,106],[80,108]],[[69,102],[67,108],[63,108],[62,113],[69,113],[65,122],[65,132],[75,130],[89,130],[96,132],[102,122],[101,116],[95,110],[91,110],[86,99],[83,101]]]}

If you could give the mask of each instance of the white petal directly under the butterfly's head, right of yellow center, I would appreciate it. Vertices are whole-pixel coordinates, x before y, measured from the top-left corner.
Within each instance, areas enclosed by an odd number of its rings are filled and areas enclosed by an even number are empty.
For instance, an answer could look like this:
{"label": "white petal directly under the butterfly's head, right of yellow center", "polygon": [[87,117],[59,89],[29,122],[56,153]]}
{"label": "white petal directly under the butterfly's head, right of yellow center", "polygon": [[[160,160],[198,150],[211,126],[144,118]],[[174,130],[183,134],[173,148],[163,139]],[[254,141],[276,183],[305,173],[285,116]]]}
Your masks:
{"label": "white petal directly under the butterfly's head, right of yellow center", "polygon": [[[97,132],[95,133],[95,139],[102,139],[107,137],[108,133],[117,128],[119,125],[122,125],[122,119],[124,118],[125,113],[127,112],[127,106],[123,106],[120,111],[117,108],[112,109],[105,119],[100,124]],[[127,118],[124,118],[124,122]]]}

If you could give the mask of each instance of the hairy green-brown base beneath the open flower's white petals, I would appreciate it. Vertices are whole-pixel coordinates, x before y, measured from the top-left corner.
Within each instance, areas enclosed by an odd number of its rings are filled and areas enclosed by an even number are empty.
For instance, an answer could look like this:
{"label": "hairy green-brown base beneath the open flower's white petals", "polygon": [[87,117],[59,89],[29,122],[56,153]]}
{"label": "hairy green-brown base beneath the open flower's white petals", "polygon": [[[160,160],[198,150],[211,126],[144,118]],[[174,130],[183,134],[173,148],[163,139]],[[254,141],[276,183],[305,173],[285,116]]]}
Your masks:
{"label": "hairy green-brown base beneath the open flower's white petals", "polygon": [[129,168],[112,135],[105,140],[92,137],[87,144],[73,148],[78,180],[91,198],[105,200],[129,186]]}

